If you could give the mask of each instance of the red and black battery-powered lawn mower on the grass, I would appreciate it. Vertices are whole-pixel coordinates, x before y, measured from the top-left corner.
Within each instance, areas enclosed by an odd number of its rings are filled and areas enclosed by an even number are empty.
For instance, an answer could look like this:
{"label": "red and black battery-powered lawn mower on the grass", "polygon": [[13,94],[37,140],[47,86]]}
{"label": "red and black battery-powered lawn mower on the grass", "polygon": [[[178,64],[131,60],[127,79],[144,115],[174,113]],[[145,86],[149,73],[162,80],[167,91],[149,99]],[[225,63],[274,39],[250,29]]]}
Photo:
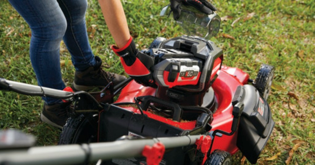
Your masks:
{"label": "red and black battery-powered lawn mower on the grass", "polygon": [[[216,13],[182,14],[183,27],[205,26],[206,37],[219,30]],[[155,59],[152,76],[157,88],[130,78],[89,93],[5,79],[0,88],[73,102],[59,147],[81,144],[76,149],[84,151],[79,157],[85,162],[219,165],[231,164],[231,155],[241,151],[255,164],[274,127],[266,102],[274,69],[262,64],[257,77],[250,79],[241,69],[222,65],[222,49],[206,37],[158,37],[142,50]]]}

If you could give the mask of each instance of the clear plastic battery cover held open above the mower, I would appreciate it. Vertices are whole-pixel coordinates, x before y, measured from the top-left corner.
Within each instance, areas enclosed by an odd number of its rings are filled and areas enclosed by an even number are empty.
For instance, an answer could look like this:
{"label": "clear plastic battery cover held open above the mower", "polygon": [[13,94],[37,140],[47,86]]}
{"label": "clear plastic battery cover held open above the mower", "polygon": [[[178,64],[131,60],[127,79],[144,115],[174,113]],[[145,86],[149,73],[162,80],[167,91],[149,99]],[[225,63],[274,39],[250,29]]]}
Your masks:
{"label": "clear plastic battery cover held open above the mower", "polygon": [[[220,29],[221,18],[215,12],[204,14],[193,9],[193,7],[180,6],[180,17],[176,22],[185,30],[189,36],[200,36],[210,39],[215,36]],[[171,14],[170,5],[165,6],[160,16],[169,16]]]}

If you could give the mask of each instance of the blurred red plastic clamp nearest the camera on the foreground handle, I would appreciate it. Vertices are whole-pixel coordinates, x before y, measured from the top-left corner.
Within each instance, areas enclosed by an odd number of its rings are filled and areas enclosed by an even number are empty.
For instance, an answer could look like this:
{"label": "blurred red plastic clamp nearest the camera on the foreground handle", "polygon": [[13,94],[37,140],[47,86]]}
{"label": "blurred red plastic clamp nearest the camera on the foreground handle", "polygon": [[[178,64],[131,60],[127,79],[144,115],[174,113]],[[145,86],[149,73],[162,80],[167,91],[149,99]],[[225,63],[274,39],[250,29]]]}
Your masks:
{"label": "blurred red plastic clamp nearest the camera on the foreground handle", "polygon": [[155,143],[152,147],[146,145],[143,148],[142,155],[146,157],[147,165],[158,165],[162,161],[165,152],[165,146],[161,143]]}

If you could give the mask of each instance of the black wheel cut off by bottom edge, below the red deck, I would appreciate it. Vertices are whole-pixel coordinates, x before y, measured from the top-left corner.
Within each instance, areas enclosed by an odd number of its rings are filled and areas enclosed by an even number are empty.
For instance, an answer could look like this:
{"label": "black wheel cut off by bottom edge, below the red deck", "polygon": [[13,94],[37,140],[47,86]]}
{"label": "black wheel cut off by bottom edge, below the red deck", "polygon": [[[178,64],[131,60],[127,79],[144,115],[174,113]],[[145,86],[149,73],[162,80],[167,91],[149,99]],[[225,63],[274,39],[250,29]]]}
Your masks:
{"label": "black wheel cut off by bottom edge, below the red deck", "polygon": [[215,150],[204,163],[205,165],[230,165],[231,154],[222,150]]}

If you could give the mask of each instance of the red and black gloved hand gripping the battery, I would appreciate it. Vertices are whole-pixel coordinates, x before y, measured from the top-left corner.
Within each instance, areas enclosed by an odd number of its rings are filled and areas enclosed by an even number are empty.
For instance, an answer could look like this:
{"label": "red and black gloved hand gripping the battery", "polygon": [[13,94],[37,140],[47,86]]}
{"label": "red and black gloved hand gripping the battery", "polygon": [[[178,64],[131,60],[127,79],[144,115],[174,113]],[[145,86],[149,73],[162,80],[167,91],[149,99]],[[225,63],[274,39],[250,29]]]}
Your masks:
{"label": "red and black gloved hand gripping the battery", "polygon": [[120,57],[125,72],[131,78],[141,85],[157,88],[150,71],[154,65],[154,58],[139,52],[132,37],[124,47],[118,48],[113,45],[112,50]]}

